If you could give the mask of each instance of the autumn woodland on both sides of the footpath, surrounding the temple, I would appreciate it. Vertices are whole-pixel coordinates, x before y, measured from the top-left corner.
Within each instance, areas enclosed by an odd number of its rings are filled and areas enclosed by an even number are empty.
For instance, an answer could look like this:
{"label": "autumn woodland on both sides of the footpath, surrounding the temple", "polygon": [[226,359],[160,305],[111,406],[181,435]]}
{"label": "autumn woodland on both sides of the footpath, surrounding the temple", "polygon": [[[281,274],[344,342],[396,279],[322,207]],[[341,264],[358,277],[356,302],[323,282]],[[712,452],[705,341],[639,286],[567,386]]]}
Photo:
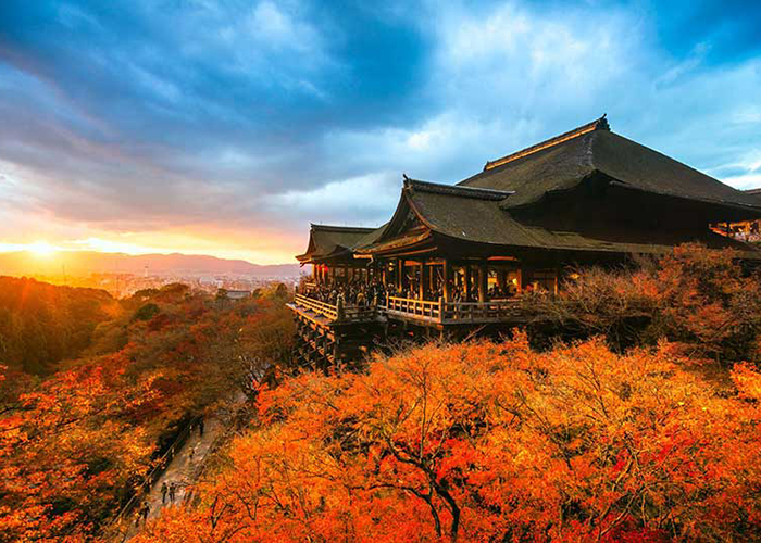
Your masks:
{"label": "autumn woodland on both sides of the footpath, surrounding the temple", "polygon": [[236,390],[247,427],[136,541],[758,540],[758,274],[686,245],[573,281],[523,300],[549,328],[327,372],[291,364],[283,287],[111,301],[78,358],[0,371],[0,540],[103,538]]}

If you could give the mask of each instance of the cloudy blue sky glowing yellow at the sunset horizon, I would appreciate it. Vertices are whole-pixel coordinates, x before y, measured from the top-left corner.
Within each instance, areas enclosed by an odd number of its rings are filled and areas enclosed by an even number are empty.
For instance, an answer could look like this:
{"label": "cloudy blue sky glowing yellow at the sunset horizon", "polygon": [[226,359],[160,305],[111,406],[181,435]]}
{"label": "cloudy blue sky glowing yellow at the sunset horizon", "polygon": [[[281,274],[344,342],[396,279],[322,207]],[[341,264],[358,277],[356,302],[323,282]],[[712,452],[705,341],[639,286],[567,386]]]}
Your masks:
{"label": "cloudy blue sky glowing yellow at the sunset horizon", "polygon": [[0,250],[294,262],[602,113],[761,186],[761,2],[413,3],[0,0]]}

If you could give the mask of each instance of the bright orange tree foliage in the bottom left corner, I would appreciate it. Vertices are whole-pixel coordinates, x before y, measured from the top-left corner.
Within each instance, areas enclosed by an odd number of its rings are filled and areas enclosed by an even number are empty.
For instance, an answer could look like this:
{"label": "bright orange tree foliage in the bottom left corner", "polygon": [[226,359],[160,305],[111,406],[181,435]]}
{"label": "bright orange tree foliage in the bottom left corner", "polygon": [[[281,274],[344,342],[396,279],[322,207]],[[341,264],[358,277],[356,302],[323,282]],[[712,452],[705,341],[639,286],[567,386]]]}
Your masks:
{"label": "bright orange tree foliage in the bottom left corner", "polygon": [[152,378],[127,386],[125,361],[60,372],[2,405],[0,540],[80,541],[117,506],[152,446],[129,424]]}

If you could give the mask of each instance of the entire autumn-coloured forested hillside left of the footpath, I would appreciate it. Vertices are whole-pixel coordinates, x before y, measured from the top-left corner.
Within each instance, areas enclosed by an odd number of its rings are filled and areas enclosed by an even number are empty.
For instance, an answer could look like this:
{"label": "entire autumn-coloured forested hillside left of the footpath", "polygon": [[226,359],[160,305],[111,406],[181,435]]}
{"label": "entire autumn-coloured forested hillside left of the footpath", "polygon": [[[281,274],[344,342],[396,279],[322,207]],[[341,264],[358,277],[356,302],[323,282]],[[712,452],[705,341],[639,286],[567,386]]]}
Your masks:
{"label": "entire autumn-coloured forested hillside left of the footpath", "polygon": [[114,301],[9,283],[12,320],[78,338],[55,353],[80,357],[53,371],[38,352],[42,378],[0,358],[0,541],[97,538],[187,420],[288,369],[285,289],[229,303],[171,285]]}

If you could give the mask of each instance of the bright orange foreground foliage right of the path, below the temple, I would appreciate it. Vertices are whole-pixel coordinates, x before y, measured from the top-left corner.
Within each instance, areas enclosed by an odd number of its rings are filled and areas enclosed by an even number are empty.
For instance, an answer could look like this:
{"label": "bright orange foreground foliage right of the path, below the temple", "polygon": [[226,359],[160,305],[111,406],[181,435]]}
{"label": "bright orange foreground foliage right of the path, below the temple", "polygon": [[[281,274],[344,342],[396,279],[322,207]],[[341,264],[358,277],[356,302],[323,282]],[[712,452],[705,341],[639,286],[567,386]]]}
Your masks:
{"label": "bright orange foreground foliage right of the path, below the temple", "polygon": [[427,345],[260,396],[229,467],[137,541],[743,540],[761,375],[716,395],[669,349]]}

